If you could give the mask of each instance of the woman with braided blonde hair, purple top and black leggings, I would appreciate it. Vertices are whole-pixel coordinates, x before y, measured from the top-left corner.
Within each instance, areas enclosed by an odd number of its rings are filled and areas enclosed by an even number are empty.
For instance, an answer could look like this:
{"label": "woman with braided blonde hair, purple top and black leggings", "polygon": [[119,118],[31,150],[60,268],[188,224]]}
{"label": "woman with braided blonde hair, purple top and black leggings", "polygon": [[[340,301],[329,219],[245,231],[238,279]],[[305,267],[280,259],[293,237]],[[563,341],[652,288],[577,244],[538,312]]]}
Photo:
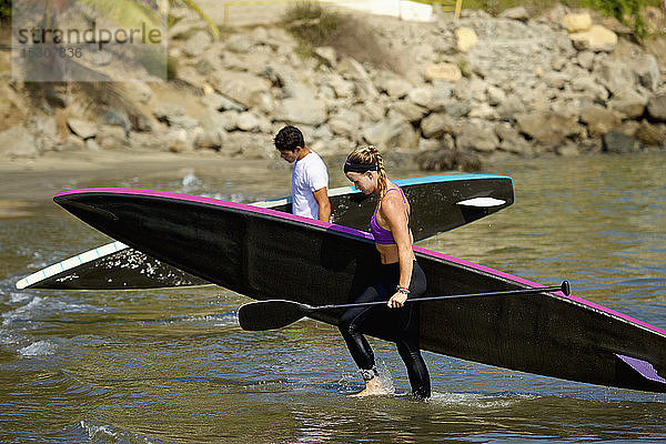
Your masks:
{"label": "woman with braided blonde hair, purple top and black leggings", "polygon": [[386,178],[382,155],[374,147],[352,152],[344,164],[344,173],[357,190],[377,195],[370,231],[380,252],[381,273],[355,302],[387,301],[387,306],[395,309],[387,312],[377,306],[353,307],[340,319],[342,336],[365,381],[365,389],[357,395],[385,393],[373,351],[361,333],[364,324],[382,316],[384,324],[390,323],[389,334],[407,367],[412,393],[417,398],[427,398],[431,395],[430,375],[418,349],[418,304],[405,305],[407,297],[418,297],[426,290],[425,274],[412,249],[410,203],[402,190]]}

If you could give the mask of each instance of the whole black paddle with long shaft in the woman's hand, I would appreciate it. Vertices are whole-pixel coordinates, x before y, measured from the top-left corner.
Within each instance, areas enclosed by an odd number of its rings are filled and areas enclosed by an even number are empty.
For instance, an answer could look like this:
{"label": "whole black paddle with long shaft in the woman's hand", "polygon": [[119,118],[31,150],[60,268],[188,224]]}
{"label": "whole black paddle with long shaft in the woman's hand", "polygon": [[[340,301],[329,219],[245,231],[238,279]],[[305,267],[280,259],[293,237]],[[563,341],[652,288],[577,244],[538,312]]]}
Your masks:
{"label": "whole black paddle with long shaft in the woman's hand", "polygon": [[[563,281],[559,286],[543,286],[541,289],[523,289],[523,290],[506,290],[488,293],[471,293],[471,294],[445,294],[441,296],[427,296],[418,299],[408,299],[406,302],[426,302],[441,301],[447,299],[463,297],[483,297],[483,296],[505,296],[514,294],[536,294],[561,291],[565,295],[571,294],[569,284]],[[355,304],[339,304],[339,305],[319,305],[312,306],[294,301],[269,300],[258,301],[244,304],[239,309],[239,322],[243,330],[263,331],[281,329],[292,324],[309,314],[333,309],[350,309],[356,306],[386,305],[386,301],[362,302]]]}

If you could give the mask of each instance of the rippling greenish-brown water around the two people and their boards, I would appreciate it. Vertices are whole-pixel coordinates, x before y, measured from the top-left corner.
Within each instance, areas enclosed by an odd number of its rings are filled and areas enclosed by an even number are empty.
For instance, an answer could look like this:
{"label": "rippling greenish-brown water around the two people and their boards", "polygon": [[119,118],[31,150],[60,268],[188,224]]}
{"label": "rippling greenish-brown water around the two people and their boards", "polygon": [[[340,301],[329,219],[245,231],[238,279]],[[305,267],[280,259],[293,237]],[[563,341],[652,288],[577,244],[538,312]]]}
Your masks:
{"label": "rippling greenish-brown water around the two people and their boards", "polygon": [[[544,284],[567,279],[576,295],[666,327],[663,164],[648,154],[497,165],[488,172],[514,179],[515,204],[423,246]],[[285,171],[249,171],[123,180],[240,201],[286,192]],[[400,172],[408,175],[423,174]],[[273,180],[283,186],[262,195]],[[333,171],[331,185],[344,184]],[[75,186],[85,185],[95,183]],[[39,216],[0,220],[6,442],[666,441],[665,395],[433,353],[424,356],[435,393],[415,402],[395,347],[381,341],[373,347],[395,393],[347,397],[361,380],[336,329],[302,321],[243,332],[235,310],[248,299],[219,287],[19,292],[22,275],[108,242],[51,203],[31,211]]]}

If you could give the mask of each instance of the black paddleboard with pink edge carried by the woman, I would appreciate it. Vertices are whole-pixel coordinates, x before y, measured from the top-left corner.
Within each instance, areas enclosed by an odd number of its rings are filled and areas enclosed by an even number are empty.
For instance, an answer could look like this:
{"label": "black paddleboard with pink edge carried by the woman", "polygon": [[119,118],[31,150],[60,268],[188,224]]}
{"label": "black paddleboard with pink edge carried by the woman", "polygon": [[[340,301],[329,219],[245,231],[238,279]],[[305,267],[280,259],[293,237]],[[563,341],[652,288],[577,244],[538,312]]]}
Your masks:
{"label": "black paddleboard with pink edge carried by the woman", "polygon": [[[134,249],[258,300],[353,302],[380,266],[369,233],[270,209],[127,189],[74,190],[54,201]],[[543,286],[414,250],[427,276],[426,296]],[[565,380],[666,392],[666,332],[581,297],[538,293],[420,305],[424,350]],[[340,314],[313,317],[336,324]],[[381,327],[367,333],[391,340]]]}

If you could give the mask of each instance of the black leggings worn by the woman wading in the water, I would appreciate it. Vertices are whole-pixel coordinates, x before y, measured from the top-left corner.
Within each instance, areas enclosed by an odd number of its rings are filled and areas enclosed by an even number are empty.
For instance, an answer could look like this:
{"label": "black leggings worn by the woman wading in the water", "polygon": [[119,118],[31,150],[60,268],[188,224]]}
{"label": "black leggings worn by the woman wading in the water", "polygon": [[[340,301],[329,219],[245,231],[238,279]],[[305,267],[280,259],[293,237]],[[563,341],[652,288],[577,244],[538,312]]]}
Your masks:
{"label": "black leggings worn by the woman wading in the water", "polygon": [[[395,293],[400,281],[400,264],[382,265],[380,278],[354,302],[389,301]],[[426,281],[423,270],[416,261],[410,282],[410,297],[425,293]],[[421,350],[418,349],[418,305],[406,303],[401,309],[375,305],[347,309],[340,319],[339,327],[352,357],[365,374],[376,372],[374,353],[362,331],[381,332],[397,345],[397,352],[407,367],[412,393],[415,397],[427,398],[431,395],[430,374]],[[365,377],[365,376],[364,376]]]}

